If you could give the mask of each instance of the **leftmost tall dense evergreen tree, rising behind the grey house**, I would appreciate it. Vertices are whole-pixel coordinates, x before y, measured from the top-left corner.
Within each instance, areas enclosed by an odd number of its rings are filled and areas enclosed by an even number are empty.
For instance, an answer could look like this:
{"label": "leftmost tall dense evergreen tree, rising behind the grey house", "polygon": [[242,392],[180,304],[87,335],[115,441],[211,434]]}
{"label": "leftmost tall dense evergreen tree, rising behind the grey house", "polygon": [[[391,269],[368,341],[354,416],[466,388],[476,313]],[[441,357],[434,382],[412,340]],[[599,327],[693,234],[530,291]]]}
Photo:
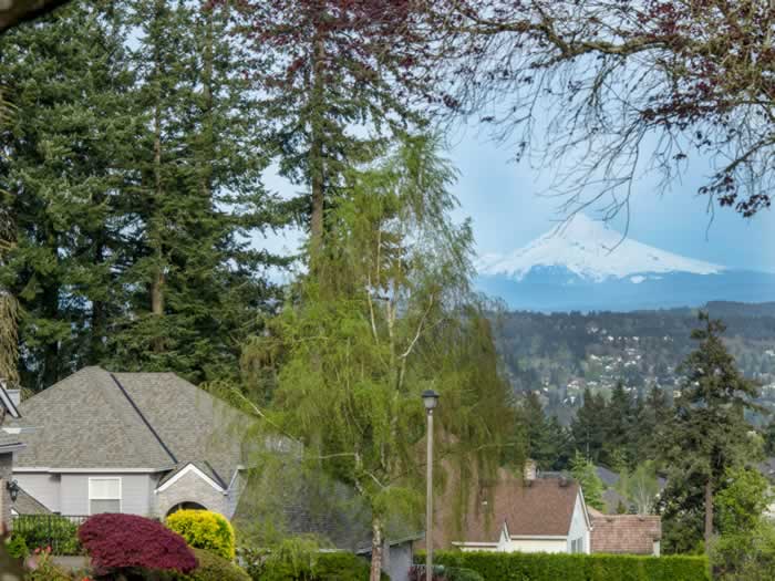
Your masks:
{"label": "leftmost tall dense evergreen tree, rising behind the grey house", "polygon": [[0,134],[0,189],[17,242],[0,264],[0,287],[21,303],[30,387],[100,361],[110,334],[124,160],[136,127],[121,14],[108,2],[81,2],[0,39],[0,77],[16,110]]}

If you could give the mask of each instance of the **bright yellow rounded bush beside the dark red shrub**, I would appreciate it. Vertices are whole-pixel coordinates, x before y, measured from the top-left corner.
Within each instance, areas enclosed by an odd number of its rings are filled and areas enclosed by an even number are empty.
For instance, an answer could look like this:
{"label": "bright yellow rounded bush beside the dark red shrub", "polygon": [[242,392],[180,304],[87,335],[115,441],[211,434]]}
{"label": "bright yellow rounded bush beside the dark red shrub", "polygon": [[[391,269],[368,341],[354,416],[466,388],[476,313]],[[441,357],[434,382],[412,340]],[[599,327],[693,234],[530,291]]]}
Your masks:
{"label": "bright yellow rounded bush beside the dark red shrub", "polygon": [[209,510],[178,510],[167,517],[167,527],[189,547],[205,549],[224,559],[235,557],[235,533],[226,517]]}

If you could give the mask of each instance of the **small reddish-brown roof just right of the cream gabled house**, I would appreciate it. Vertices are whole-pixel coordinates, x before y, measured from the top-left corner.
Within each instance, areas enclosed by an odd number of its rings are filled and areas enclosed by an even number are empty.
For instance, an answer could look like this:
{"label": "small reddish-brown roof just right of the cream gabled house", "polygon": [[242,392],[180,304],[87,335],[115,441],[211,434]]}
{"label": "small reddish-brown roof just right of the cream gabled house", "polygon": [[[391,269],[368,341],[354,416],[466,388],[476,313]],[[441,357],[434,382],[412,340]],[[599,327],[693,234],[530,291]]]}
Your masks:
{"label": "small reddish-brown roof just right of the cream gabled house", "polygon": [[592,552],[651,554],[662,538],[662,519],[655,515],[603,515],[589,510]]}

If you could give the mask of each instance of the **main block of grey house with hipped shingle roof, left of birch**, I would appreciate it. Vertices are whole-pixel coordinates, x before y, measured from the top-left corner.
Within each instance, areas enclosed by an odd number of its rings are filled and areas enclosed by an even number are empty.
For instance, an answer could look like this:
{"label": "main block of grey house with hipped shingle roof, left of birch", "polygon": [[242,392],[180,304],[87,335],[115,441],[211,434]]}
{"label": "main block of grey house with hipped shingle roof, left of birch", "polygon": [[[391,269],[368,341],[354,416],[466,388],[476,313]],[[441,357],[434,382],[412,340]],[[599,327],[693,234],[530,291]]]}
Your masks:
{"label": "main block of grey house with hipped shingle roof, left of birch", "polygon": [[[165,517],[207,508],[231,517],[249,418],[173,373],[85,367],[19,405],[13,478],[34,506],[66,516]],[[18,419],[7,422],[10,427]]]}

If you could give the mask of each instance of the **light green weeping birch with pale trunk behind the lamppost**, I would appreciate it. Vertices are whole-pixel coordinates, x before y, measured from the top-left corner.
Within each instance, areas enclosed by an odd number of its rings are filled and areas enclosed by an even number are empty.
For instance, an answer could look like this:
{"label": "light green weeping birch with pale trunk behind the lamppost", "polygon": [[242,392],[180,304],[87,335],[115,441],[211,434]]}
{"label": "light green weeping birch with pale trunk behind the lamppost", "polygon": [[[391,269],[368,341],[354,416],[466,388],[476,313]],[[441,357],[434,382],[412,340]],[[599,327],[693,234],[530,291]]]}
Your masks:
{"label": "light green weeping birch with pale trunk behind the lamppost", "polygon": [[245,350],[261,425],[368,507],[378,580],[385,525],[422,513],[420,394],[442,396],[440,466],[457,459],[465,474],[493,474],[512,429],[509,390],[469,288],[471,228],[451,219],[454,179],[428,137],[350,172],[320,268]]}

